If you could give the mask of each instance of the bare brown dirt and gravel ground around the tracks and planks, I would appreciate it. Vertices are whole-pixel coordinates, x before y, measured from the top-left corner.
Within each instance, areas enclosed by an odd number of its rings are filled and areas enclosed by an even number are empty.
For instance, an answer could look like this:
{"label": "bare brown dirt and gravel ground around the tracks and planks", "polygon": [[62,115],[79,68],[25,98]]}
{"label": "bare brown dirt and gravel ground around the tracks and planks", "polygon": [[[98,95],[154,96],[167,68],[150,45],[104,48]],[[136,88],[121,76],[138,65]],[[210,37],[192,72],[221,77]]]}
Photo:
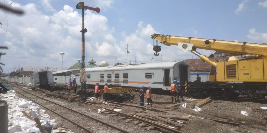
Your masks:
{"label": "bare brown dirt and gravel ground around the tracks and planks", "polygon": [[[41,95],[41,91],[30,91],[32,93]],[[67,91],[63,91],[67,93]],[[73,91],[71,91],[71,94]],[[138,93],[134,92],[136,94],[135,100],[131,103],[131,105],[138,105],[139,106],[139,97]],[[53,101],[57,101],[60,104],[63,104],[65,106],[68,106],[72,109],[81,111],[83,113],[86,113],[92,117],[104,120],[105,122],[112,123],[120,128],[123,128],[125,130],[128,130],[130,132],[149,132],[149,133],[159,133],[159,130],[152,130],[152,131],[146,131],[144,128],[140,128],[138,126],[133,125],[132,123],[124,123],[123,120],[116,119],[116,117],[111,117],[110,115],[105,114],[99,114],[97,113],[97,109],[100,109],[100,107],[96,107],[93,105],[85,105],[85,106],[78,106],[77,102],[68,102],[64,99],[54,98],[54,97],[45,97],[52,99]],[[187,98],[187,97],[184,97]],[[152,94],[153,101],[171,101],[170,95],[160,95],[160,94]],[[198,99],[197,101],[201,101],[204,98]],[[145,99],[146,103],[146,99]],[[170,104],[169,104],[170,105]],[[208,103],[207,105],[204,105],[201,107],[200,112],[196,112],[192,109],[190,109],[190,105],[193,105],[193,103],[187,103],[187,107],[179,107],[178,109],[164,109],[164,107],[168,106],[168,104],[164,105],[158,105],[153,104],[153,107],[158,109],[163,109],[165,111],[170,112],[170,114],[178,115],[178,116],[189,116],[191,115],[191,119],[185,126],[180,129],[180,131],[185,133],[229,133],[230,129],[239,129],[245,132],[250,133],[267,133],[267,124],[263,125],[263,117],[267,116],[267,111],[262,110],[256,110],[260,107],[267,107],[267,104],[261,104],[261,103],[253,103],[253,102],[234,102],[234,101],[227,101],[227,100],[213,100],[211,103]],[[105,106],[105,105],[101,105]],[[108,106],[107,106],[108,107]],[[124,107],[122,109],[123,113],[131,113],[134,111],[138,111],[140,109],[133,108],[133,107]],[[247,111],[249,113],[248,116],[242,115],[240,111]],[[56,119],[58,123],[58,127],[65,127],[68,129],[72,129],[74,132],[85,132],[82,131],[81,128],[78,128],[77,126],[73,125],[72,123],[66,122],[63,118],[53,114],[50,111],[46,112],[50,115],[52,119]],[[196,116],[196,117],[193,117]],[[224,120],[234,123],[239,123],[240,126],[233,126],[230,124],[223,124],[218,123],[213,120],[209,119],[201,119],[199,117],[206,117],[206,118],[212,118],[212,119],[218,119],[218,120]],[[81,120],[84,120],[84,118],[81,118]],[[87,121],[85,121],[86,123]],[[118,132],[116,130],[97,130],[95,132]]]}

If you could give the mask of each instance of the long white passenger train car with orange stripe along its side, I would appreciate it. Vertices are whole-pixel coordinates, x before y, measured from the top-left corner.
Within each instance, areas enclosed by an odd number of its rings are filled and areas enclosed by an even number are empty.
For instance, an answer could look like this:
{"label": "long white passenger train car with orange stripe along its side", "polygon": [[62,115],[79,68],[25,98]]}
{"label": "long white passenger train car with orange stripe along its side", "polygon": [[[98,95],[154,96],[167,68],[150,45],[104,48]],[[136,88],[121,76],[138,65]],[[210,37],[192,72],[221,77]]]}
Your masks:
{"label": "long white passenger train car with orange stripe along its side", "polygon": [[151,89],[171,90],[174,79],[182,85],[190,81],[190,67],[184,61],[86,68],[85,71],[86,84],[90,88],[96,82],[100,86],[107,82],[112,87],[139,88],[141,85],[149,85]]}

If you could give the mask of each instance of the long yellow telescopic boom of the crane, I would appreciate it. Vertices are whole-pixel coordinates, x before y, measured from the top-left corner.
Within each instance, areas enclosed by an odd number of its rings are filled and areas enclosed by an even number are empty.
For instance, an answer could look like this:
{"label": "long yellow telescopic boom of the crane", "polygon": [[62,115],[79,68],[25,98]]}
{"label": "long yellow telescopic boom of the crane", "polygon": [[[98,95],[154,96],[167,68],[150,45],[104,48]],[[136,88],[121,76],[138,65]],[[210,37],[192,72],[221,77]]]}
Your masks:
{"label": "long yellow telescopic boom of the crane", "polygon": [[257,43],[246,43],[236,41],[224,41],[215,39],[202,39],[202,38],[191,38],[181,36],[170,36],[170,35],[151,35],[152,39],[156,39],[164,45],[178,45],[178,43],[193,44],[193,47],[199,49],[215,50],[229,53],[239,54],[256,54],[261,56],[267,55],[267,45]]}

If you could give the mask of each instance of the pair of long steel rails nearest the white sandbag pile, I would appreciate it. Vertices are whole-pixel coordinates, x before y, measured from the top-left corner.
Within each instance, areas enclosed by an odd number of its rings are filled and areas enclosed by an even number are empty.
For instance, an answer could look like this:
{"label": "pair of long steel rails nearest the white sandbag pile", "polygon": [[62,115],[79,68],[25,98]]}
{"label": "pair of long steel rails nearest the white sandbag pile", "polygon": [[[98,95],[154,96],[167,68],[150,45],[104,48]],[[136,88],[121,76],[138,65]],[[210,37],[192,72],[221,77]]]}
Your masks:
{"label": "pair of long steel rails nearest the white sandbag pile", "polygon": [[[13,85],[13,86],[15,86],[15,85]],[[16,88],[18,88],[17,86],[15,86]],[[18,89],[20,89],[20,88],[18,88]],[[22,90],[22,89],[21,89]],[[16,91],[16,90],[15,90]],[[27,92],[27,91],[25,91],[25,90],[23,90],[24,92]],[[17,92],[17,91],[16,91]],[[19,93],[19,92],[18,92]],[[27,93],[29,93],[29,92],[27,92]],[[19,94],[21,94],[21,93],[19,93]],[[32,93],[29,93],[29,94],[32,94]],[[21,95],[23,95],[23,94],[21,94]],[[48,99],[45,99],[45,98],[42,98],[42,97],[40,97],[40,96],[38,96],[38,95],[35,95],[35,94],[32,94],[32,95],[34,95],[34,96],[36,96],[36,97],[39,97],[39,98],[41,98],[41,99],[44,99],[44,100],[46,100],[46,101],[49,101],[49,102],[52,102],[52,101],[50,101],[50,100],[48,100]],[[25,95],[23,95],[23,96],[25,96]],[[26,97],[26,96],[25,96]],[[28,98],[28,97],[27,97]],[[30,98],[29,98],[30,99]],[[30,100],[32,100],[32,99],[30,99]],[[34,100],[32,100],[32,101],[34,101]],[[35,101],[34,101],[35,102]],[[37,103],[37,102],[36,102]],[[60,104],[58,104],[58,103],[55,103],[55,102],[52,102],[52,103],[54,103],[54,104],[56,104],[56,105],[58,105],[58,106],[61,106],[61,107],[64,107],[64,108],[66,108],[66,109],[69,109],[69,110],[71,110],[71,111],[74,111],[74,112],[76,112],[76,113],[78,113],[78,114],[81,114],[81,115],[84,115],[85,117],[88,117],[88,118],[90,118],[90,119],[92,119],[92,120],[95,120],[95,121],[97,121],[97,122],[99,122],[99,123],[102,123],[102,124],[104,124],[104,125],[107,125],[108,127],[111,127],[111,128],[114,128],[114,129],[116,129],[116,130],[118,130],[118,131],[121,131],[121,132],[123,132],[123,133],[131,133],[131,132],[128,132],[128,131],[126,131],[126,130],[124,130],[124,129],[121,129],[121,128],[119,128],[119,127],[116,127],[116,126],[113,126],[113,125],[111,125],[111,124],[108,124],[108,123],[106,123],[106,122],[104,122],[104,121],[101,121],[101,120],[99,120],[99,119],[96,119],[96,118],[93,118],[93,117],[91,117],[91,116],[89,116],[89,115],[86,115],[86,114],[83,114],[83,113],[81,113],[81,112],[78,112],[78,111],[76,111],[76,110],[73,110],[73,109],[70,109],[69,107],[66,107],[66,106],[63,106],[63,105],[60,105]],[[38,104],[40,104],[40,103],[38,103]],[[40,104],[41,105],[41,104]],[[43,106],[43,107],[45,107],[44,105],[41,105],[41,106]],[[50,110],[48,107],[45,107],[46,109],[48,109],[48,110]],[[52,110],[50,110],[50,111],[52,111]],[[52,112],[54,112],[54,111],[52,111]],[[58,114],[58,113],[56,113],[56,112],[54,112],[55,114]],[[58,115],[60,115],[60,114],[58,114]],[[62,116],[62,115],[60,115],[60,116]],[[63,117],[63,116],[62,116]],[[64,118],[64,117],[63,117]],[[66,119],[66,120],[69,120],[68,118],[64,118],[64,119]],[[71,122],[71,120],[69,120],[70,122]],[[73,121],[72,121],[73,122]],[[75,123],[75,122],[74,122]],[[73,123],[73,124],[74,124]],[[76,123],[77,124],[77,123]],[[78,126],[78,125],[77,125]],[[81,128],[82,128],[82,126],[81,126]],[[85,128],[85,127],[83,127],[83,128]],[[87,130],[86,128],[85,128],[85,130]],[[89,130],[88,130],[88,132],[90,132]],[[92,132],[92,131],[91,131]]]}

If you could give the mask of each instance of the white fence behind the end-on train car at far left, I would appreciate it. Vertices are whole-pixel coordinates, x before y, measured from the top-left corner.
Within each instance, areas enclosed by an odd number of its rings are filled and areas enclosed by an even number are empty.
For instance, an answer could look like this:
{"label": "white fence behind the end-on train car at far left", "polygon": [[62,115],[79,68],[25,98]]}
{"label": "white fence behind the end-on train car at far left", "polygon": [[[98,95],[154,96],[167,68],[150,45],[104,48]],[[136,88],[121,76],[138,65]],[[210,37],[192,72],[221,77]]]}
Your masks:
{"label": "white fence behind the end-on train car at far left", "polygon": [[[23,84],[28,84],[31,82],[31,77],[12,77],[12,78],[1,77],[1,78],[9,82],[22,82]],[[55,78],[57,78],[57,80],[55,80]],[[69,82],[69,78],[70,76],[53,76],[53,81],[58,84],[66,84],[67,82]],[[80,76],[76,76],[76,82],[77,85],[81,85]]]}

